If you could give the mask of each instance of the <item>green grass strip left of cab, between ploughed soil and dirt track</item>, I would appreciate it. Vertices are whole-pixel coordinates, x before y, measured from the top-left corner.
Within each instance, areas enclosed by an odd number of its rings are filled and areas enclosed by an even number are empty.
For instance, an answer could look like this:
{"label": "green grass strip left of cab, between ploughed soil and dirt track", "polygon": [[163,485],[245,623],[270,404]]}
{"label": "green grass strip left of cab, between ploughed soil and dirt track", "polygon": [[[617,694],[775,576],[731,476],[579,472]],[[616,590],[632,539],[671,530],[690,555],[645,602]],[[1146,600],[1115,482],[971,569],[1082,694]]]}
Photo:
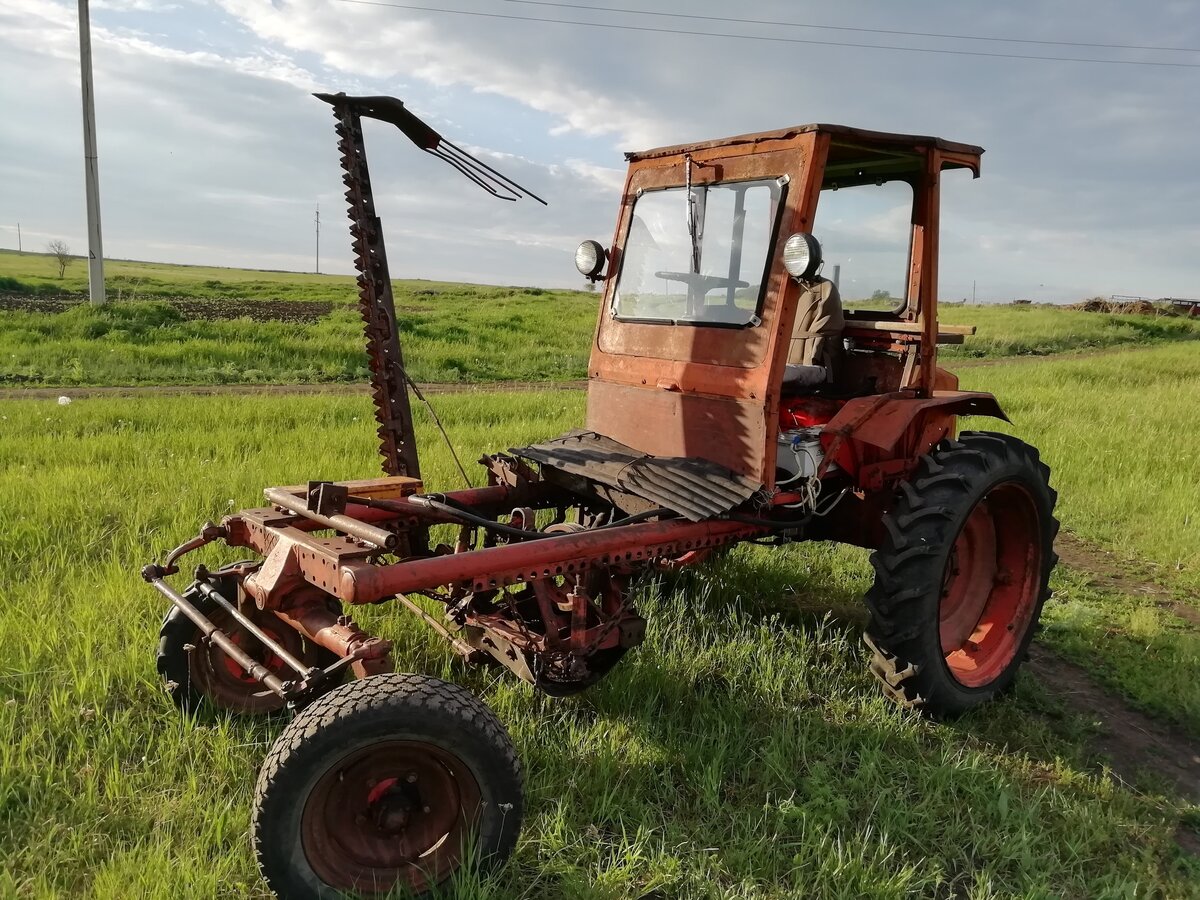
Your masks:
{"label": "green grass strip left of cab, between ploughed soil and dirt track", "polygon": [[[565,380],[587,372],[595,300],[570,292],[448,287],[397,296],[419,382]],[[353,307],[313,324],[185,320],[166,302],[0,312],[0,386],[367,380]]]}

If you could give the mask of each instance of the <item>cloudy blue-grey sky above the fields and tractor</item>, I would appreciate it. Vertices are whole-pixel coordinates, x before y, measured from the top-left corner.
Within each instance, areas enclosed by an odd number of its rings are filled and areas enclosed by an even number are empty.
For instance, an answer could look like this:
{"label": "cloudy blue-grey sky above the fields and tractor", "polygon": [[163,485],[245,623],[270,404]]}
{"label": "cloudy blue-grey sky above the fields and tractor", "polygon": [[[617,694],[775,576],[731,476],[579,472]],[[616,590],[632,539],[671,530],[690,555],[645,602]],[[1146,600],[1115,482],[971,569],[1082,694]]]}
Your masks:
{"label": "cloudy blue-grey sky above the fields and tractor", "polygon": [[[394,277],[580,287],[624,151],[824,121],[985,148],[983,178],[943,181],[943,299],[1200,296],[1200,0],[92,0],[91,23],[108,257],[312,271],[319,206],[320,270],[353,271],[311,96],[341,90],[400,97],[550,203],[367,122]],[[77,28],[67,0],[0,4],[0,247],[18,222],[26,250],[86,246]],[[827,259],[844,295],[895,293],[905,198],[852,193],[818,206]]]}

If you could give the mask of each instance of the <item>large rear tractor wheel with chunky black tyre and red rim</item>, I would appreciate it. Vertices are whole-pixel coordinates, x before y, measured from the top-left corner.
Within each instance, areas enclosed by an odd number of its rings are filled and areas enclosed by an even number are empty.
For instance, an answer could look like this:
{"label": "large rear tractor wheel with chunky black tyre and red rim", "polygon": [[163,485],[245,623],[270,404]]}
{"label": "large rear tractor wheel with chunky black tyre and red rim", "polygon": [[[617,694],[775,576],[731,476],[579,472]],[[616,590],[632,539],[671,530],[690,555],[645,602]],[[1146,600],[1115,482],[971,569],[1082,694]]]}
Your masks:
{"label": "large rear tractor wheel with chunky black tyre and red rim", "polygon": [[1016,677],[1057,557],[1050,469],[1008,434],[922,457],[871,554],[871,671],[904,706],[954,716]]}

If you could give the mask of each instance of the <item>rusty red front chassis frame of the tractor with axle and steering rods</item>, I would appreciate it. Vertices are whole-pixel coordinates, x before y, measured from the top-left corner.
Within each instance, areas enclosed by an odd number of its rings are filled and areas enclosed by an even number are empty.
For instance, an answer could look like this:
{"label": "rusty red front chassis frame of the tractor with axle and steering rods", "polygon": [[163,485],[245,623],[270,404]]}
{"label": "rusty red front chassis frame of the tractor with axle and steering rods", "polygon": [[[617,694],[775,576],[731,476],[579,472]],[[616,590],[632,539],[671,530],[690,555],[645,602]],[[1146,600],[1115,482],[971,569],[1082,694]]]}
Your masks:
{"label": "rusty red front chassis frame of the tractor with axle and steering rods", "polygon": [[[778,534],[786,526],[738,518],[689,522],[664,510],[658,521],[584,528],[563,520],[571,504],[578,506],[580,517],[587,516],[586,502],[548,482],[521,479],[516,485],[437,494],[437,506],[413,492],[419,486],[415,479],[391,476],[313,482],[307,491],[268,488],[264,493],[274,505],[205,524],[162,565],[148,565],[142,575],[196,623],[202,641],[220,647],[293,708],[319,696],[347,668],[360,678],[391,671],[391,642],[359,628],[342,605],[392,599],[445,637],[463,659],[494,660],[523,680],[562,695],[594,683],[642,642],[646,623],[630,599],[631,576],[698,562],[716,547]],[[794,498],[775,499],[781,505]],[[497,538],[486,527],[464,522],[457,510],[506,532]],[[557,527],[533,530],[539,510],[557,510]],[[498,521],[505,515],[514,524]],[[412,546],[438,524],[458,526],[455,546]],[[528,538],[512,535],[515,529]],[[180,593],[167,583],[180,571],[181,557],[214,541],[246,547],[263,559],[217,571],[199,565],[192,592]],[[238,584],[236,596],[218,590],[222,580]],[[188,598],[194,592],[252,635],[259,653],[235,644],[197,608]],[[409,595],[440,601],[444,622]],[[256,612],[274,613],[337,660],[325,667],[305,665],[258,628]],[[264,655],[276,660],[275,672],[263,665]],[[278,661],[290,674],[280,674]]]}

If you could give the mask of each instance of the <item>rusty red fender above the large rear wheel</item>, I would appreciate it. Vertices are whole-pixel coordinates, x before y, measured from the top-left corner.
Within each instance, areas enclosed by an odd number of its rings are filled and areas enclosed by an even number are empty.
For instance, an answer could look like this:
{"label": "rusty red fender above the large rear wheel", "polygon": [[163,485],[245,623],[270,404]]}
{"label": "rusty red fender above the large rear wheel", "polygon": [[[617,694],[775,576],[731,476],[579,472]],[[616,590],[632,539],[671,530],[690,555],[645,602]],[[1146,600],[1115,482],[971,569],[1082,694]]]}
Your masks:
{"label": "rusty red fender above the large rear wheel", "polygon": [[857,397],[822,431],[827,466],[835,462],[866,491],[905,478],[917,460],[955,430],[955,416],[988,415],[1009,421],[991,394],[934,391],[917,397],[894,391]]}

